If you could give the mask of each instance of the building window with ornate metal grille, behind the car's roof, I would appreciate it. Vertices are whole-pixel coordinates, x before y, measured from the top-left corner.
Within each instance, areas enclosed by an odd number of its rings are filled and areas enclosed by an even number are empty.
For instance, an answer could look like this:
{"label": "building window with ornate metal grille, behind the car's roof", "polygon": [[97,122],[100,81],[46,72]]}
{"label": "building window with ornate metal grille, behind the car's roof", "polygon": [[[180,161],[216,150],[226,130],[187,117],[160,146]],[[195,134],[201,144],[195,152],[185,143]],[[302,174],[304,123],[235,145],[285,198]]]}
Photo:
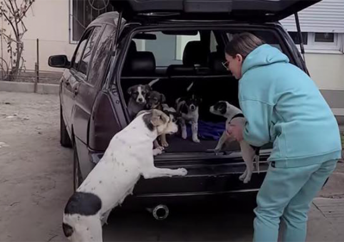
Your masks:
{"label": "building window with ornate metal grille, behind the car's roof", "polygon": [[86,27],[99,15],[114,11],[110,0],[70,0],[70,42],[78,43]]}

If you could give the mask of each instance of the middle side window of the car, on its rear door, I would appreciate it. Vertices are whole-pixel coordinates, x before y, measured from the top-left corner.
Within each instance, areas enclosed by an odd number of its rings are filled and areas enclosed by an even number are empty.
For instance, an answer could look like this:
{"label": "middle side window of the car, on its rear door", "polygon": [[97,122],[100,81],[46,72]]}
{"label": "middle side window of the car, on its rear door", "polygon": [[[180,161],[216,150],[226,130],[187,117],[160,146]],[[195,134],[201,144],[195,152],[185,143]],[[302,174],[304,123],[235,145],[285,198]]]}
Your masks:
{"label": "middle side window of the car, on its rear door", "polygon": [[79,72],[83,73],[84,75],[87,75],[87,67],[91,60],[93,49],[96,46],[98,37],[101,33],[100,30],[101,27],[94,27],[86,43],[85,51],[79,64]]}

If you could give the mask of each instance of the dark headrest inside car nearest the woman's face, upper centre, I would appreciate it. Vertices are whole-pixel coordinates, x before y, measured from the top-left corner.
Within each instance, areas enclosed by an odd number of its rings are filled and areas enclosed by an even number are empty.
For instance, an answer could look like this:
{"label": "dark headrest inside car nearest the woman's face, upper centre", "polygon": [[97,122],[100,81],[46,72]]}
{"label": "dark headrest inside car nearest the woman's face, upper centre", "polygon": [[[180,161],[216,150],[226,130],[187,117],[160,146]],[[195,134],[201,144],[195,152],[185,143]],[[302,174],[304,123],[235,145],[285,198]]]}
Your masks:
{"label": "dark headrest inside car nearest the woman's face, upper centre", "polygon": [[189,41],[183,53],[183,65],[206,65],[207,53],[201,41]]}

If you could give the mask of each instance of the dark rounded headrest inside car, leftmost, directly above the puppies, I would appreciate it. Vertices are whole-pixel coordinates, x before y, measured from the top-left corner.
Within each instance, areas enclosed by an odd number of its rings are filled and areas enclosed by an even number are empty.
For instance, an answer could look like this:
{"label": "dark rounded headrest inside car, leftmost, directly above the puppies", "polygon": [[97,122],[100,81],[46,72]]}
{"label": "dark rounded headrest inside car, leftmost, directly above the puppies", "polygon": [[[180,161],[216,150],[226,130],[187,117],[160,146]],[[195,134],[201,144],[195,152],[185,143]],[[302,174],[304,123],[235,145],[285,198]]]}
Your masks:
{"label": "dark rounded headrest inside car, leftmost, directly above the puppies", "polygon": [[133,54],[128,65],[127,75],[130,76],[155,73],[155,58],[153,53],[148,51],[138,51]]}

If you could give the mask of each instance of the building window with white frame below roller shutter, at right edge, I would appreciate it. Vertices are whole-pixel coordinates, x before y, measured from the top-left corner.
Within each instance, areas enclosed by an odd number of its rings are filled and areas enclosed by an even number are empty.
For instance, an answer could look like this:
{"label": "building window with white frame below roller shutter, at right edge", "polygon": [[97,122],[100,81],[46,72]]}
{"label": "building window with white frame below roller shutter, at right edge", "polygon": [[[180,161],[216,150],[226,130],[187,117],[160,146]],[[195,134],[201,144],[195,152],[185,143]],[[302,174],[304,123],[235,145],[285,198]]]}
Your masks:
{"label": "building window with white frame below roller shutter, at right edge", "polygon": [[[297,32],[288,32],[296,45],[300,44]],[[306,52],[343,53],[343,33],[302,32]],[[299,46],[297,46],[299,48]]]}

